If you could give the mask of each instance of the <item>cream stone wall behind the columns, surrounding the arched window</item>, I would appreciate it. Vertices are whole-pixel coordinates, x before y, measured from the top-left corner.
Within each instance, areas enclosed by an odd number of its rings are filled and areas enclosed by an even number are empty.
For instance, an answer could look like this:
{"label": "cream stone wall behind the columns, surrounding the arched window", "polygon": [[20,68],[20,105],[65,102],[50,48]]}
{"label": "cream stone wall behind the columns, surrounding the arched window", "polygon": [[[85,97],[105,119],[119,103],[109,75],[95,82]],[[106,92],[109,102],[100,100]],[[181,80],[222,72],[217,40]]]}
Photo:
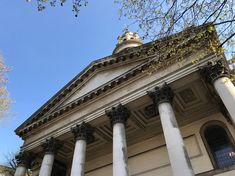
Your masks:
{"label": "cream stone wall behind the columns, surrounding the arched window", "polygon": [[[201,127],[205,123],[213,121],[224,123],[235,138],[235,129],[221,113],[211,114],[180,128],[195,174],[214,169],[200,135]],[[128,168],[131,176],[173,175],[163,133],[128,146],[128,156]],[[112,152],[86,162],[86,176],[112,176],[112,170]],[[219,176],[227,176],[227,172],[221,173]]]}

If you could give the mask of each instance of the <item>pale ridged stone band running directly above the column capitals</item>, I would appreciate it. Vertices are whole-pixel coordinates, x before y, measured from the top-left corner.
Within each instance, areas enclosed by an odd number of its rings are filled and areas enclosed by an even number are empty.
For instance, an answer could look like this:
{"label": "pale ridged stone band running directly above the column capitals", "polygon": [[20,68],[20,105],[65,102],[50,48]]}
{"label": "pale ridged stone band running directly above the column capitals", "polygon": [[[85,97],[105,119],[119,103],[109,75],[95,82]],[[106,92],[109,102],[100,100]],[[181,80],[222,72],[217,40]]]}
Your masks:
{"label": "pale ridged stone band running directly above the column capitals", "polygon": [[[79,119],[76,119],[75,121],[71,121],[55,131],[52,131],[52,132],[45,134],[37,139],[34,139],[30,143],[24,144],[22,147],[24,150],[30,151],[30,150],[40,146],[41,143],[46,138],[49,138],[50,136],[57,138],[65,133],[70,132],[71,127],[74,126],[74,124],[77,124],[77,123],[79,124],[79,123],[82,123],[83,121],[86,123],[89,123],[92,120],[105,115],[105,111],[107,109],[110,109],[110,107],[112,107],[112,106],[116,106],[120,102],[123,105],[125,105],[125,104],[128,104],[129,102],[132,102],[140,97],[145,96],[148,91],[153,90],[156,86],[162,85],[165,80],[167,80],[168,84],[171,84],[172,82],[174,82],[180,78],[183,78],[191,73],[198,71],[200,67],[204,66],[208,61],[210,61],[212,59],[215,59],[214,55],[205,56],[205,58],[202,59],[197,65],[190,64],[187,67],[181,67],[177,72],[172,72],[171,74],[168,74],[168,75],[164,76],[163,78],[156,78],[155,81],[151,82],[151,84],[146,84],[144,87],[140,87],[137,90],[135,90],[135,92],[125,94],[124,96],[119,97],[118,100],[114,100],[113,102],[110,102],[108,107],[101,106],[100,108],[94,110],[93,112],[90,112],[88,115],[85,115]],[[145,78],[145,77],[146,77],[146,75],[145,76],[141,75],[141,78]],[[64,116],[62,116],[62,118],[63,117]],[[53,123],[53,122],[51,122],[51,123]],[[40,130],[43,130],[43,129],[40,128]],[[29,134],[27,134],[27,135],[29,135]]]}

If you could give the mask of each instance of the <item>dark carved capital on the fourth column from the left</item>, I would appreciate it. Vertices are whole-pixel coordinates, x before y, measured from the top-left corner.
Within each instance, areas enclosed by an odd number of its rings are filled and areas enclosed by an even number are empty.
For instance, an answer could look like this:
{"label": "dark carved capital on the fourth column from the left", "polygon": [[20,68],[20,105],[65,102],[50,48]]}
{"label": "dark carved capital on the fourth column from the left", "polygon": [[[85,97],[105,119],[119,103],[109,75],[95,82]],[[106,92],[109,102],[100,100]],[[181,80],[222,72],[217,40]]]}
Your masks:
{"label": "dark carved capital on the fourth column from the left", "polygon": [[111,110],[105,113],[110,119],[111,126],[115,123],[126,124],[127,119],[130,117],[130,111],[122,104],[119,104],[117,107],[112,107]]}

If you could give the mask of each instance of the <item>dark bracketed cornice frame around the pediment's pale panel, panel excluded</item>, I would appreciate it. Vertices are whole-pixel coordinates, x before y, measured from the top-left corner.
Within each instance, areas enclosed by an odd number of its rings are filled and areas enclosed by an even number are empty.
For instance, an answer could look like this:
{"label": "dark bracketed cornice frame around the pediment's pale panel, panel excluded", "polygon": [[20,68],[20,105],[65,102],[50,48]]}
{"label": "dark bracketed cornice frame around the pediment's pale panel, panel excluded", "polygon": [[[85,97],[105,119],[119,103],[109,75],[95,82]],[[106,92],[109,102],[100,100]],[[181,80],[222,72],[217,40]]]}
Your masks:
{"label": "dark bracketed cornice frame around the pediment's pale panel, panel excluded", "polygon": [[[35,113],[33,113],[24,123],[22,123],[16,130],[16,134],[20,137],[24,138],[26,133],[43,126],[49,121],[60,117],[62,114],[67,113],[76,107],[80,106],[83,103],[94,99],[97,96],[105,93],[107,90],[116,87],[123,82],[129,80],[132,77],[135,77],[138,74],[146,71],[154,62],[158,62],[156,58],[156,54],[158,53],[158,49],[162,44],[167,45],[169,42],[174,43],[176,47],[185,47],[189,44],[189,42],[193,42],[194,38],[192,34],[200,33],[201,31],[207,31],[207,28],[210,24],[199,26],[199,27],[190,27],[183,32],[174,34],[169,37],[162,38],[157,41],[149,42],[147,44],[143,44],[139,47],[134,48],[126,48],[120,53],[113,54],[111,56],[104,57],[102,59],[95,60],[91,62],[84,70],[82,70],[77,76],[75,76],[69,83],[67,83],[61,90],[59,90],[52,98],[50,98],[44,105],[42,105]],[[179,40],[177,36],[185,35],[186,37],[182,40]],[[214,34],[213,34],[214,35]],[[205,40],[205,42],[208,42]],[[200,43],[203,46],[203,43]],[[190,51],[189,51],[190,52]],[[159,56],[158,56],[159,57]],[[175,62],[175,59],[171,57],[171,55],[165,55],[165,60],[169,60],[171,62]],[[60,109],[50,112],[58,103],[61,103],[63,100],[69,96],[74,89],[76,89],[83,81],[93,74],[97,70],[101,70],[103,68],[109,67],[111,65],[119,64],[121,62],[125,63],[129,60],[140,59],[140,58],[149,58],[143,64],[136,66],[135,68],[127,71],[125,74],[105,83],[104,85],[98,87],[95,90],[90,91],[84,96],[68,103],[66,106],[61,107]],[[162,59],[162,58],[161,58]],[[174,61],[173,61],[174,60]]]}

